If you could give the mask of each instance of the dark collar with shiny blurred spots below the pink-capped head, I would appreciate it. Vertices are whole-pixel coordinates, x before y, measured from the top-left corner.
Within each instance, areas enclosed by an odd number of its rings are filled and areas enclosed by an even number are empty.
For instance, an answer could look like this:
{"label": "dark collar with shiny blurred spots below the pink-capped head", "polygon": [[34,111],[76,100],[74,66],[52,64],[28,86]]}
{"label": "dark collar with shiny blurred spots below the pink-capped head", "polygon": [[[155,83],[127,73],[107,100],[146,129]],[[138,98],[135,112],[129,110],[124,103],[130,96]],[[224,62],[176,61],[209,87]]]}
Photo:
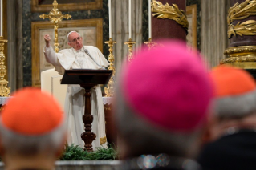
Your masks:
{"label": "dark collar with shiny blurred spots below the pink-capped head", "polygon": [[161,153],[158,155],[141,155],[125,160],[124,170],[127,169],[199,170],[201,166],[194,160]]}

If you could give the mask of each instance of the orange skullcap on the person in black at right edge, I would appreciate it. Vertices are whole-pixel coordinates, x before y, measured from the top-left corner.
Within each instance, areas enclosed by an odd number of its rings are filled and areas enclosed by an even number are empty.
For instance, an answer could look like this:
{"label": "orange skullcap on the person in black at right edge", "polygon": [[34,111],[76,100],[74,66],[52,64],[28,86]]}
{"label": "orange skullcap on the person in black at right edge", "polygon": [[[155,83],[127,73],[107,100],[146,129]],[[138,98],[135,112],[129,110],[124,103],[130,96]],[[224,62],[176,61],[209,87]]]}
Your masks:
{"label": "orange skullcap on the person in black at right edge", "polygon": [[247,71],[236,67],[215,67],[210,76],[215,85],[216,97],[244,95],[256,88],[254,78]]}

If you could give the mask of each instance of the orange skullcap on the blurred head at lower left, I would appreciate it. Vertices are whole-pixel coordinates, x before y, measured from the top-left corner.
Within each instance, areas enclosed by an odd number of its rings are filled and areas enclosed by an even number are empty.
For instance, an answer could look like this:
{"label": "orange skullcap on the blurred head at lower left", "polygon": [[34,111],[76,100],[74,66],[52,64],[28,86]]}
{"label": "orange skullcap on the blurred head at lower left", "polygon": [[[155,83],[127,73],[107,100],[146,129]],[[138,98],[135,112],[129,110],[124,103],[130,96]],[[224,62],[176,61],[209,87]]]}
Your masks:
{"label": "orange skullcap on the blurred head at lower left", "polygon": [[26,136],[40,136],[64,121],[59,103],[47,92],[26,87],[17,91],[0,114],[3,127]]}

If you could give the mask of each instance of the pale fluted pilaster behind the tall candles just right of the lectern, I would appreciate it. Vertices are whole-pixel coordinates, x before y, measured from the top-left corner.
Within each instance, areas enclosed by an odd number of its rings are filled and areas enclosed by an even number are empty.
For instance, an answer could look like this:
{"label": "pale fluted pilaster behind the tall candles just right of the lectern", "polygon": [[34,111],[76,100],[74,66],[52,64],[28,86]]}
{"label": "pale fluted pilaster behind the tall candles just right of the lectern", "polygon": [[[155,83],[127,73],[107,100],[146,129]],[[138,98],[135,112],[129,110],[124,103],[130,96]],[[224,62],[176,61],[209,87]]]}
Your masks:
{"label": "pale fluted pilaster behind the tall candles just right of the lectern", "polygon": [[[123,60],[128,56],[128,0],[112,0],[112,39],[116,41],[113,48],[115,56],[116,75],[119,75]],[[141,46],[142,42],[142,1],[132,0],[132,41],[136,44],[133,49]]]}

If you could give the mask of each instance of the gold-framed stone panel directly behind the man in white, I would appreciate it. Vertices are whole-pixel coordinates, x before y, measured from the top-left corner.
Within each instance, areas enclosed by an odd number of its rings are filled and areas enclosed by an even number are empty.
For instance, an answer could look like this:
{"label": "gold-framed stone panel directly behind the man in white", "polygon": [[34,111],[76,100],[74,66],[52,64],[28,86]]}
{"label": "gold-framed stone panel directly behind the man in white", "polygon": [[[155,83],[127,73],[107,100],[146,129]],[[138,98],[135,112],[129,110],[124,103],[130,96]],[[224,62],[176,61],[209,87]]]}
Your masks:
{"label": "gold-framed stone panel directly behind the man in white", "polygon": [[[71,30],[75,30],[83,37],[83,45],[95,46],[103,51],[103,19],[83,19],[83,20],[70,20],[59,23],[58,29],[58,42],[59,50],[70,48],[67,45],[67,34]],[[40,87],[40,75],[42,71],[53,68],[51,63],[47,63],[43,48],[45,42],[43,39],[44,34],[51,36],[51,45],[54,44],[54,25],[51,22],[31,22],[31,43],[32,43],[32,86]]]}

